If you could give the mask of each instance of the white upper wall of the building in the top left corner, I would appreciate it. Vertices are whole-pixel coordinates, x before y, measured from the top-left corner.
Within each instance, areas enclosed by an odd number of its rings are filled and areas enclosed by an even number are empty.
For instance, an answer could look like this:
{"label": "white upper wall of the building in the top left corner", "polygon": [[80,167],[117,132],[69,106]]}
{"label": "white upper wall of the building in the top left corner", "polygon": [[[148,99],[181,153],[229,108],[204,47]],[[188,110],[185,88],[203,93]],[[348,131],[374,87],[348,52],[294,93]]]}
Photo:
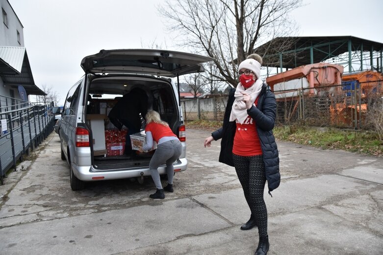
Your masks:
{"label": "white upper wall of the building in the top left corner", "polygon": [[[8,25],[3,23],[0,13],[0,46],[24,47],[23,25],[7,0],[0,0],[1,8],[7,14]],[[20,33],[20,43],[17,41],[17,31]]]}

